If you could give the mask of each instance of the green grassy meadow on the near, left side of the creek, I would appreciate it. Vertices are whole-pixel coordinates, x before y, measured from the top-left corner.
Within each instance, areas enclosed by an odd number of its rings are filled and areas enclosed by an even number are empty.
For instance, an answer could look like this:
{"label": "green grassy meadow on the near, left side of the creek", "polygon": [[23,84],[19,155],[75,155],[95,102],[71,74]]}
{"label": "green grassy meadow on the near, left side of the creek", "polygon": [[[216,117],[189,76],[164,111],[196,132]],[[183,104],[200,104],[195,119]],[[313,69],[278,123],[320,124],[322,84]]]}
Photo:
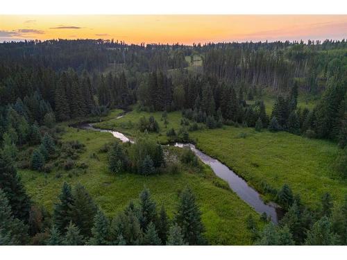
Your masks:
{"label": "green grassy meadow on the near, left side of the creek", "polygon": [[[56,168],[51,173],[19,171],[33,201],[44,205],[49,211],[53,209],[62,183],[66,181],[70,184],[81,182],[110,217],[124,209],[130,200],[137,200],[139,192],[146,186],[158,206],[164,205],[172,217],[178,203],[178,193],[188,185],[196,194],[201,207],[205,235],[210,243],[251,243],[251,234],[246,229],[245,220],[249,214],[253,214],[255,219],[259,219],[259,215],[230,189],[217,187],[216,182],[223,181],[215,177],[208,166],[204,166],[201,173],[183,168],[181,173],[149,177],[133,173],[113,175],[108,171],[107,155],[99,152],[103,144],[115,141],[110,133],[65,128],[67,132],[62,135],[62,141],[78,140],[86,146],[85,152],[78,159],[78,163],[85,162],[89,166],[85,172],[81,169],[64,171]],[[93,153],[98,159],[90,156]],[[57,173],[60,173],[60,177]]]}

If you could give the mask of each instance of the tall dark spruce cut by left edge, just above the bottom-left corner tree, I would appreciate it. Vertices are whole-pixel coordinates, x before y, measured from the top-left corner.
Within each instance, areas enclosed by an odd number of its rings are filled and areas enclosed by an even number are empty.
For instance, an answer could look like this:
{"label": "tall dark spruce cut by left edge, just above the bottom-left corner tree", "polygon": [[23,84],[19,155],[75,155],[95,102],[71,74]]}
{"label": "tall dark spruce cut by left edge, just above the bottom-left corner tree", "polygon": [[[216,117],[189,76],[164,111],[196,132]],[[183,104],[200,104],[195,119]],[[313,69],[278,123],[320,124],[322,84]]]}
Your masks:
{"label": "tall dark spruce cut by left edge, just above the bottom-left corner tree", "polygon": [[15,218],[28,223],[31,200],[22,180],[13,166],[12,159],[0,150],[0,189],[5,193]]}

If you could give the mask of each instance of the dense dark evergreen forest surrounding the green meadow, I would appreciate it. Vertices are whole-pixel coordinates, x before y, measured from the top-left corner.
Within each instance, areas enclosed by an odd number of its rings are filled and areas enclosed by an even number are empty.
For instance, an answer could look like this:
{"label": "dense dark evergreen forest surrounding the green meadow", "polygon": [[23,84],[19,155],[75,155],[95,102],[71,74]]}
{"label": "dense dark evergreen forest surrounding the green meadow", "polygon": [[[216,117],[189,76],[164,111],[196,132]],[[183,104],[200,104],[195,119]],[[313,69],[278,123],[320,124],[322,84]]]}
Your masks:
{"label": "dense dark evergreen forest surrounding the green meadow", "polygon": [[[201,60],[198,70],[191,69],[196,57]],[[269,92],[277,96],[271,114],[264,102]],[[312,110],[298,106],[301,94],[317,98]],[[189,189],[180,194],[172,221],[164,208],[155,207],[148,189],[140,194],[139,206],[130,202],[112,220],[79,184],[74,188],[64,184],[53,216],[31,201],[12,163],[21,161],[18,151],[37,147],[31,150],[31,162],[18,167],[49,171],[50,162],[64,154],[69,168],[70,157],[73,160],[83,144],[61,144],[57,123],[105,116],[115,108],[163,115],[180,111],[183,119],[196,123],[189,130],[196,130],[197,123],[208,129],[234,125],[326,139],[341,148],[336,167],[341,179],[347,178],[345,40],[192,46],[114,40],[4,42],[0,44],[0,244],[208,243]],[[139,130],[155,132],[158,123],[141,119]],[[188,141],[187,132],[180,135],[180,141]],[[115,144],[108,151],[113,173],[150,175],[164,164],[161,146],[144,140],[130,148]],[[194,156],[187,157],[194,162]],[[346,244],[346,202],[331,223],[329,194],[322,198],[321,211],[312,213],[289,187],[281,192],[280,204],[287,214],[279,227],[269,224],[261,231],[248,219],[255,243]],[[319,241],[322,233],[325,241]]]}

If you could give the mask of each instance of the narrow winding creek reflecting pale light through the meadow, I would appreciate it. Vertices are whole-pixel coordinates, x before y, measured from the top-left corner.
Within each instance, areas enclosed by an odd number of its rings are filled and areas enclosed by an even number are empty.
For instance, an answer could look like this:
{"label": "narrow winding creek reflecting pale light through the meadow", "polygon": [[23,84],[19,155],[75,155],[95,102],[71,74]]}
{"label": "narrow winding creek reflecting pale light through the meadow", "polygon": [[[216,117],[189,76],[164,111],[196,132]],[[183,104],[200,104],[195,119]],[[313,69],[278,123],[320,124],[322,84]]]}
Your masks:
{"label": "narrow winding creek reflecting pale light through the meadow", "polygon": [[[94,126],[91,123],[81,123],[81,124],[76,124],[76,125],[70,125],[71,127],[74,128],[80,128],[83,130],[94,130],[94,131],[99,131],[99,132],[110,132],[114,137],[120,139],[123,142],[130,141],[130,143],[134,143],[133,140],[129,139],[126,137],[124,134],[121,132],[113,131],[113,130],[104,130],[100,128],[94,128]],[[201,161],[204,164],[208,164],[214,173],[220,177],[221,179],[225,180],[228,182],[230,189],[232,191],[235,191],[239,198],[244,200],[248,205],[253,207],[255,211],[257,211],[259,214],[266,213],[268,216],[271,217],[271,220],[273,223],[278,223],[278,220],[282,216],[282,210],[278,205],[276,205],[273,202],[270,203],[265,203],[261,196],[260,193],[255,191],[251,186],[247,184],[247,182],[242,179],[242,177],[239,177],[236,173],[234,173],[228,166],[222,164],[219,162],[219,160],[214,159],[208,155],[205,155],[205,153],[201,152],[201,150],[198,150],[194,144],[180,144],[176,143],[174,144],[176,147],[183,148],[185,146],[189,147],[195,154],[196,156],[201,159]]]}

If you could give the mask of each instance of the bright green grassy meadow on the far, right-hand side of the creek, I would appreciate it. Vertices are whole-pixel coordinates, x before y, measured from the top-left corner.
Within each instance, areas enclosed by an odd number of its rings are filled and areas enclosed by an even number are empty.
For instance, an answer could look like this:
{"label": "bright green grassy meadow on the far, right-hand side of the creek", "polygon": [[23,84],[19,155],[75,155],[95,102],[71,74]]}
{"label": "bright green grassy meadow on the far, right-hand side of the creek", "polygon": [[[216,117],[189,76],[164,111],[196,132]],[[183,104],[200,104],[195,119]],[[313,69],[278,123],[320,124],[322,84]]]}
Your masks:
{"label": "bright green grassy meadow on the far, right-hand side of the creek", "polygon": [[[160,134],[149,137],[166,142],[167,129],[160,121],[160,112],[130,112],[121,119],[112,119],[97,124],[126,133],[138,135],[135,128],[126,129],[127,121],[137,122],[139,116],[153,115],[160,124]],[[180,128],[180,112],[168,114],[169,128]],[[246,138],[240,135],[246,133]],[[224,126],[222,129],[203,129],[189,132],[198,148],[216,157],[242,175],[253,187],[262,191],[262,183],[280,189],[287,183],[294,193],[301,195],[303,202],[312,208],[318,207],[323,193],[341,201],[347,193],[347,182],[336,179],[332,164],[339,149],[336,144],[318,139],[291,135],[288,132],[272,133],[267,130],[256,132],[253,128]]]}

